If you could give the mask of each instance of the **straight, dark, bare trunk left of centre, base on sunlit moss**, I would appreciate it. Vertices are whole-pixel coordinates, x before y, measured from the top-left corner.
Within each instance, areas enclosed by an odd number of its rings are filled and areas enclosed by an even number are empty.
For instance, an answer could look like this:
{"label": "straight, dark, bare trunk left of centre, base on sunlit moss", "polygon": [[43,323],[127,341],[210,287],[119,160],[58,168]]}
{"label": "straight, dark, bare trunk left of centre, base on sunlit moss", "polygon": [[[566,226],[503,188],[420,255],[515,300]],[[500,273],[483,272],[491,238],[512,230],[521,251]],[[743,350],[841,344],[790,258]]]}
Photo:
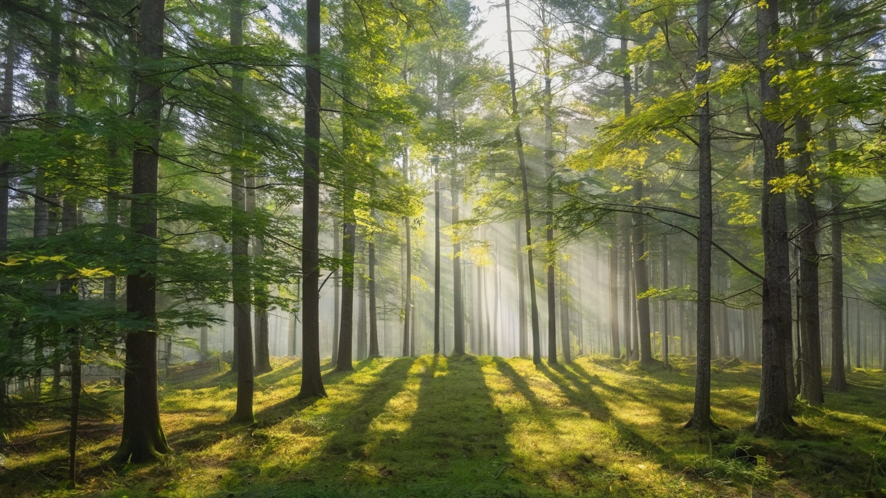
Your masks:
{"label": "straight, dark, bare trunk left of centre, base on sunlit moss", "polygon": [[326,396],[320,373],[320,0],[307,0],[305,176],[302,193],[302,362],[298,399]]}

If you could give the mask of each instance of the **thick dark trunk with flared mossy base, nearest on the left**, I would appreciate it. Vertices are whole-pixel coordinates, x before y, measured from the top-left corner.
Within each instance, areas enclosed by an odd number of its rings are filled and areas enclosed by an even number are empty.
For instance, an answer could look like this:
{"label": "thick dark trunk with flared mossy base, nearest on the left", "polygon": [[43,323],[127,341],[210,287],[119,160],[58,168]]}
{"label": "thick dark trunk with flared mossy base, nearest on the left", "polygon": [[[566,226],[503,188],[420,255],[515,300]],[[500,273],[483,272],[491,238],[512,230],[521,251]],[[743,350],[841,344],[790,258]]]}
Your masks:
{"label": "thick dark trunk with flared mossy base, nearest on the left", "polygon": [[[142,0],[139,9],[139,59],[157,61],[163,58],[163,26],[165,0]],[[157,400],[157,173],[159,162],[160,113],[162,89],[149,74],[154,69],[139,69],[137,118],[152,136],[145,136],[133,152],[132,213],[130,225],[150,242],[145,256],[147,271],[129,274],[126,278],[126,308],[142,323],[126,334],[126,379],[123,387],[123,434],[120,447],[113,455],[118,463],[144,463],[167,454],[166,437],[160,426]]]}

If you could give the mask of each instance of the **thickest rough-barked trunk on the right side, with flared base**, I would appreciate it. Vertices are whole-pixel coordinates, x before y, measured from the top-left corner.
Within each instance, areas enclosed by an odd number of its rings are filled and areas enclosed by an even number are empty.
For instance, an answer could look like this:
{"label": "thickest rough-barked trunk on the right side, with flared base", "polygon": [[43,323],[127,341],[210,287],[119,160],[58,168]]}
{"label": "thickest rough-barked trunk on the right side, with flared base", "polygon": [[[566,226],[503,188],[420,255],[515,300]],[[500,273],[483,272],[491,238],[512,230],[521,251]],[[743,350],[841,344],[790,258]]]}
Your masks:
{"label": "thickest rough-barked trunk on the right side, with flared base", "polygon": [[[762,105],[777,105],[779,89],[770,84],[777,69],[766,65],[773,56],[770,48],[779,33],[779,0],[769,0],[757,8],[760,65],[760,97]],[[784,160],[778,147],[784,142],[784,123],[771,121],[766,113],[760,117],[763,140],[763,335],[760,397],[757,409],[757,433],[781,435],[786,424],[793,424],[789,408],[789,384],[793,384],[791,365],[786,359],[791,332],[790,261],[788,241],[787,198],[784,192],[773,192],[770,182],[785,175]]]}

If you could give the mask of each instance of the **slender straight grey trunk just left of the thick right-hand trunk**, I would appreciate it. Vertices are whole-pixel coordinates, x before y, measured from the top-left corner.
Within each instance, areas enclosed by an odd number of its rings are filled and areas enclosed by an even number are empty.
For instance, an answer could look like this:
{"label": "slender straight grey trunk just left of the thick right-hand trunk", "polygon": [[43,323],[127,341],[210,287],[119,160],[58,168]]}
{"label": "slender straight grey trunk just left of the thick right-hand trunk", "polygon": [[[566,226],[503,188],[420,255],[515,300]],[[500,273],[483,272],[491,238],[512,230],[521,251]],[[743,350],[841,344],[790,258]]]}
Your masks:
{"label": "slender straight grey trunk just left of the thick right-hand trunk", "polygon": [[[708,70],[711,0],[699,0],[698,54],[696,86],[706,85]],[[696,394],[687,427],[708,431],[711,421],[711,239],[713,237],[713,207],[711,194],[711,102],[707,92],[698,107],[698,248],[696,255]]]}

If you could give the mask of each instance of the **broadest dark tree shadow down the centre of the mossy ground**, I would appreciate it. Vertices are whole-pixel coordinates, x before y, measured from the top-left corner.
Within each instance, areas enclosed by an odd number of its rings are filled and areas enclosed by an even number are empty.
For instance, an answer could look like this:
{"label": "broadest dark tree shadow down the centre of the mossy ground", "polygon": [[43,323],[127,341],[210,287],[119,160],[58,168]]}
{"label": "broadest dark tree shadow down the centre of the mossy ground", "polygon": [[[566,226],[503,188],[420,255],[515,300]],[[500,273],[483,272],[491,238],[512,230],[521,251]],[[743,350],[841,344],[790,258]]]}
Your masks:
{"label": "broadest dark tree shadow down the centre of the mossy ground", "polygon": [[504,491],[513,487],[509,479],[500,479],[513,461],[509,426],[494,405],[482,361],[433,357],[408,429],[371,455],[385,465],[382,484],[391,494],[517,495]]}

